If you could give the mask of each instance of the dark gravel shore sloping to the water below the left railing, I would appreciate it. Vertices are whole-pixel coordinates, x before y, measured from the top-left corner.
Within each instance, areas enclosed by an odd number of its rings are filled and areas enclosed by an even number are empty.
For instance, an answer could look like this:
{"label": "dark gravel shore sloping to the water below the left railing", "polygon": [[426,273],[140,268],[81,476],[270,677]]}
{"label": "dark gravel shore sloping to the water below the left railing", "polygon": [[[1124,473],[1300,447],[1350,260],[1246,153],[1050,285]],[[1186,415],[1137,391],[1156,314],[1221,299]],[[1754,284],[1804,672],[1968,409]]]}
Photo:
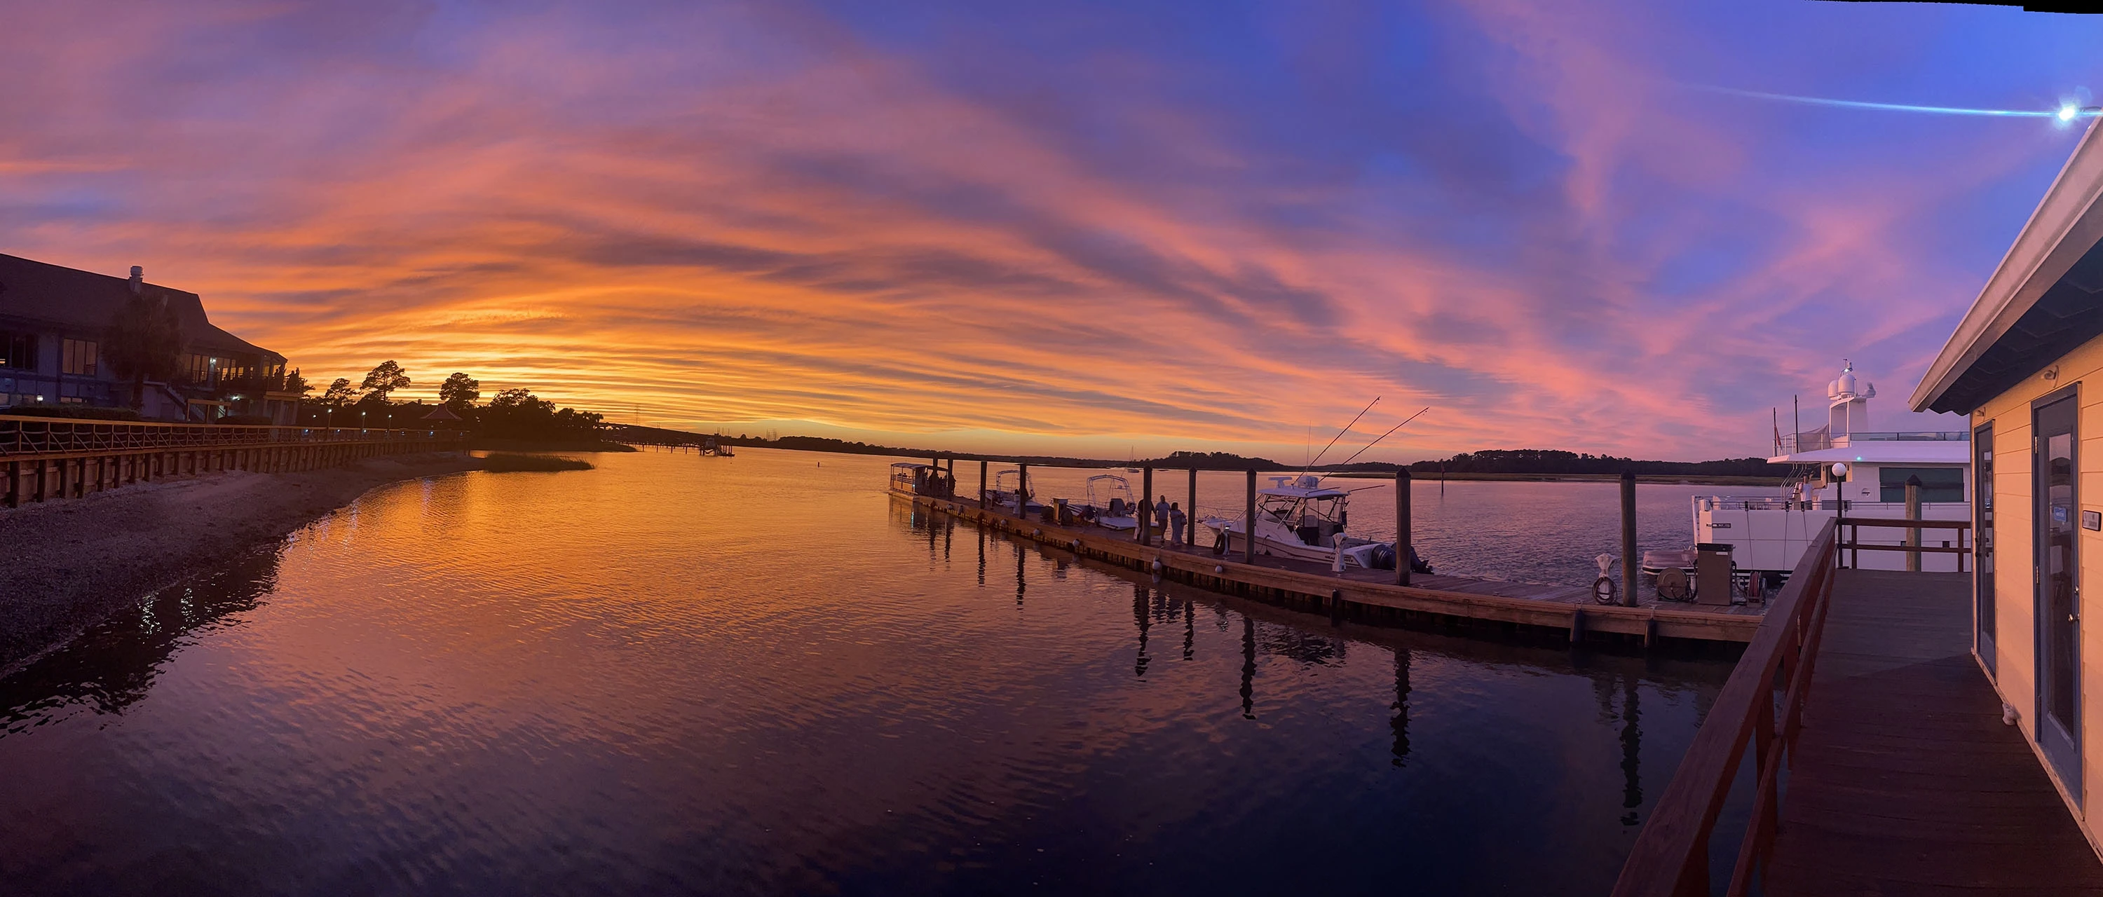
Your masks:
{"label": "dark gravel shore sloping to the water below the left railing", "polygon": [[0,508],[0,676],[376,485],[479,466],[442,452],[301,473],[206,473]]}

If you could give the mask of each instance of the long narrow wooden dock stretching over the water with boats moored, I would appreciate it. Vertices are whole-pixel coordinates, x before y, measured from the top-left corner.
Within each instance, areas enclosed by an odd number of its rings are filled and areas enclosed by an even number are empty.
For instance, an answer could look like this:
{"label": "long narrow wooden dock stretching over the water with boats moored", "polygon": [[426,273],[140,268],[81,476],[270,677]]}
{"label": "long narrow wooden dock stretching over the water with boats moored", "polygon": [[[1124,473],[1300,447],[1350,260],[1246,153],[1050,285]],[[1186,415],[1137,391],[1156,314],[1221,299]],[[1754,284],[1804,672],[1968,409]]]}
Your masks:
{"label": "long narrow wooden dock stretching over the water with boats moored", "polygon": [[[1319,563],[1258,557],[1255,563],[1237,555],[1213,555],[1209,546],[1140,544],[1131,534],[1102,527],[1062,527],[1022,519],[1005,508],[982,508],[955,498],[904,496],[934,513],[951,515],[1016,538],[1062,548],[1091,561],[1159,573],[1165,580],[1188,582],[1224,594],[1241,594],[1302,611],[1329,613],[1331,620],[1371,624],[1457,624],[1497,626],[1510,630],[1560,630],[1571,643],[1624,641],[1655,647],[1661,641],[1743,645],[1760,628],[1762,607],[1697,607],[1659,603],[1655,597],[1636,607],[1600,605],[1584,586],[1544,586],[1527,582],[1468,580],[1459,576],[1411,576],[1409,586],[1386,582],[1392,569],[1356,569],[1333,573]],[[1159,567],[1157,567],[1159,565]]]}

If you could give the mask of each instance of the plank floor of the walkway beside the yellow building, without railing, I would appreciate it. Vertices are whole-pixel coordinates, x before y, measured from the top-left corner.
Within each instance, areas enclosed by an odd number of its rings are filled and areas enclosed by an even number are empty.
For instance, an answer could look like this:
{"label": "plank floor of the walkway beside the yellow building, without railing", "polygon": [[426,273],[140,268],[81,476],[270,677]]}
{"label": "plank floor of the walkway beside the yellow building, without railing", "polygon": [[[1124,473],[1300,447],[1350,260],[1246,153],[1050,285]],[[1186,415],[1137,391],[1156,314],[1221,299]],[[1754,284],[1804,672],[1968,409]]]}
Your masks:
{"label": "plank floor of the walkway beside the yellow building, without railing", "polygon": [[1971,658],[1964,573],[1836,571],[1769,895],[2103,895]]}

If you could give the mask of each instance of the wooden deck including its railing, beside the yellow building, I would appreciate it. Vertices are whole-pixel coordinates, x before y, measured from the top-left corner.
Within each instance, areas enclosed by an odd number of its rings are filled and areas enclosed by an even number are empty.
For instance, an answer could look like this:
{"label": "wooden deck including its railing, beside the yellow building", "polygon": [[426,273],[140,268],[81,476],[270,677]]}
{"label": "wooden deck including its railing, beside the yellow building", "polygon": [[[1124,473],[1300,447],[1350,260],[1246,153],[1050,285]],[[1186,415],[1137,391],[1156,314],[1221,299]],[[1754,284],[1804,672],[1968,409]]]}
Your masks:
{"label": "wooden deck including its railing, beside the yellow building", "polygon": [[1825,523],[1615,897],[2103,893],[2103,863],[1973,660],[1971,576],[1844,567],[1842,548]]}

